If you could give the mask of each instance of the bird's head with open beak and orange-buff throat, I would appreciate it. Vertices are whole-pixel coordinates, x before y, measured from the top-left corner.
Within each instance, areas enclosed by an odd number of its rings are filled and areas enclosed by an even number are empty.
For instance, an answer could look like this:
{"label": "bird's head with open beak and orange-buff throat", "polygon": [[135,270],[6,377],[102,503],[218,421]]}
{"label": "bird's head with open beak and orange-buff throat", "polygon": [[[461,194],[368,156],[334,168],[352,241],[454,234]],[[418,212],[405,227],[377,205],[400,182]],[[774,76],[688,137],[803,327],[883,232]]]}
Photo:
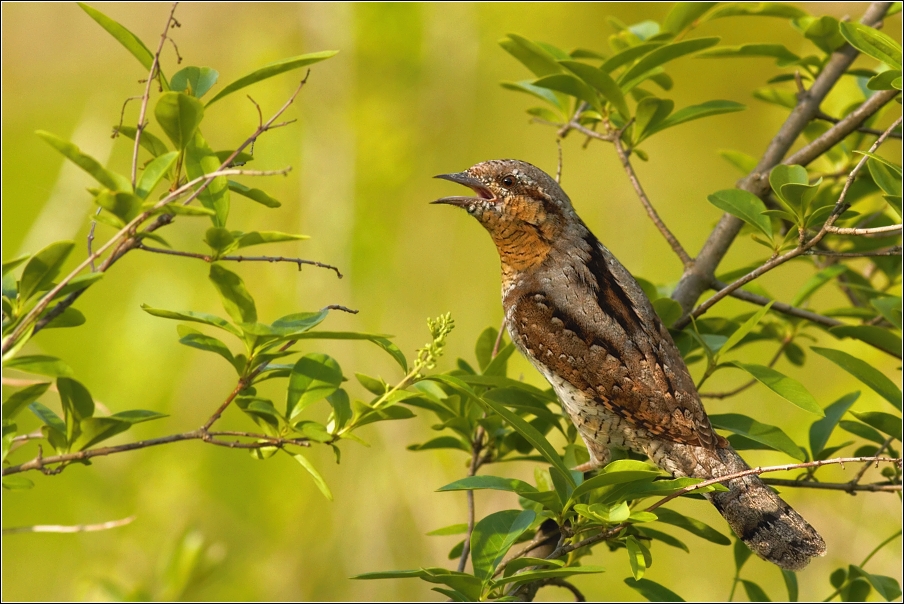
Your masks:
{"label": "bird's head with open beak and orange-buff throat", "polygon": [[485,161],[436,178],[469,187],[475,196],[433,203],[465,209],[489,231],[503,269],[523,270],[542,262],[577,216],[558,183],[531,164],[515,159]]}

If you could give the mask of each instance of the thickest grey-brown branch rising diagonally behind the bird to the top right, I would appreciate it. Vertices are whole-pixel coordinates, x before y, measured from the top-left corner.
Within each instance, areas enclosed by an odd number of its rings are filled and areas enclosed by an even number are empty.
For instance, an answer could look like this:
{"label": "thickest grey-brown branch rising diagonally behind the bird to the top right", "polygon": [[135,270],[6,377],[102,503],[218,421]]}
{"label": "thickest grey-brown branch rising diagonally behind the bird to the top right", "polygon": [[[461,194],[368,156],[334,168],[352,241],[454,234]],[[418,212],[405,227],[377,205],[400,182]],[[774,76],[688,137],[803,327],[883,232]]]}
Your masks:
{"label": "thickest grey-brown branch rising diagonally behind the bird to the top right", "polygon": [[[860,22],[868,26],[875,25],[882,20],[890,6],[891,2],[873,2]],[[770,142],[756,168],[738,184],[738,188],[750,191],[757,196],[762,196],[768,190],[763,189],[761,178],[765,176],[765,184],[768,187],[769,171],[782,161],[782,158],[790,150],[800,133],[819,113],[819,106],[823,99],[848,70],[854,59],[857,58],[857,54],[857,51],[848,44],[832,53],[822,72],[813,81],[810,90],[800,95],[797,106],[791,112],[791,115],[788,116],[788,119],[785,120],[772,142]],[[873,97],[878,94],[876,93]],[[864,116],[863,119],[865,120],[866,117],[868,116]],[[853,125],[853,127],[859,127],[861,123],[862,121]],[[841,124],[838,124],[829,132],[832,130],[840,134],[844,128],[841,127]],[[800,163],[800,161],[795,159],[790,163]],[[685,270],[678,286],[675,288],[675,292],[672,294],[672,298],[681,304],[681,308],[684,309],[685,313],[690,311],[697,298],[709,287],[716,267],[728,252],[743,224],[740,219],[730,214],[723,215],[706,240],[706,243],[703,244],[703,248],[694,260],[694,265]]]}

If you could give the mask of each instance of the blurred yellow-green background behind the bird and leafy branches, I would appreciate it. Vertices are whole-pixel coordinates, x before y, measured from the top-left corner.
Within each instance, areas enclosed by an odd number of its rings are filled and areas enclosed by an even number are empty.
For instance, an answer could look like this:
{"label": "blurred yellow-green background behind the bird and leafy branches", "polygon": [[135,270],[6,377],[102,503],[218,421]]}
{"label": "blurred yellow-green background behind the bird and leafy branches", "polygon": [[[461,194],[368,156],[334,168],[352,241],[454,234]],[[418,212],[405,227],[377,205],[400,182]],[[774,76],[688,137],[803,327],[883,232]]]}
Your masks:
{"label": "blurred yellow-green background behind the bird and leafy branches", "polygon": [[[312,236],[297,245],[260,248],[262,253],[300,255],[336,264],[328,271],[293,265],[231,266],[256,296],[263,318],[276,318],[326,304],[358,309],[337,314],[330,329],[393,334],[411,354],[428,334],[427,317],[451,312],[456,320],[441,368],[456,357],[473,359],[485,327],[498,326],[498,260],[489,238],[463,212],[430,206],[455,194],[435,174],[464,169],[492,158],[524,159],[554,172],[554,132],[531,124],[524,109],[535,103],[508,92],[501,80],[530,77],[498,46],[506,33],[609,52],[613,32],[606,16],[625,23],[661,21],[668,4],[186,4],[174,33],[182,65],[210,66],[220,85],[283,57],[325,49],[340,53],[314,66],[308,85],[288,117],[298,122],[271,132],[257,144],[258,169],[292,166],[286,178],[254,181],[283,207],[267,210],[234,198],[230,225],[243,230],[285,230]],[[105,13],[155,47],[168,10],[163,4],[104,4]],[[813,14],[858,18],[865,4],[808,4]],[[139,95],[146,76],[135,59],[75,4],[2,6],[3,27],[3,257],[33,252],[58,239],[84,242],[92,211],[87,175],[33,135],[49,130],[69,138],[111,168],[127,170],[131,145],[110,138],[127,97]],[[900,39],[900,17],[887,31]],[[787,22],[732,18],[698,30],[722,36],[723,44],[768,41],[797,53],[814,52]],[[167,47],[165,71],[174,73]],[[863,61],[861,59],[861,61]],[[867,63],[864,62],[864,65]],[[705,71],[704,71],[705,70]],[[717,150],[759,156],[785,112],[754,100],[750,92],[778,73],[766,59],[703,62],[683,59],[669,67],[675,88],[668,98],[682,107],[721,98],[748,104],[747,111],[686,124],[657,135],[644,147],[647,163],[636,169],[665,222],[693,254],[720,212],[706,201],[731,187],[739,174]],[[300,72],[246,91],[272,113],[291,93]],[[846,78],[843,86],[854,86]],[[257,126],[257,112],[244,92],[212,107],[204,132],[214,148],[233,148]],[[834,104],[833,104],[834,103]],[[824,108],[840,110],[829,99]],[[134,122],[137,103],[126,110]],[[156,127],[156,125],[152,126]],[[563,186],[584,220],[636,275],[669,284],[680,265],[646,218],[610,148],[582,149],[577,137],[564,147]],[[900,145],[889,145],[900,154]],[[248,179],[245,179],[248,182]],[[165,236],[178,249],[204,251],[207,223],[180,219]],[[110,229],[101,225],[99,235]],[[81,244],[80,244],[81,245]],[[739,241],[723,269],[765,254]],[[759,248],[762,250],[763,248]],[[73,256],[75,256],[74,254]],[[802,263],[763,280],[789,298],[812,273]],[[181,346],[175,324],[153,318],[142,303],[172,309],[222,313],[200,261],[135,252],[79,301],[88,323],[75,332],[43,333],[29,351],[65,359],[94,397],[113,411],[144,408],[169,414],[134,428],[120,440],[192,429],[203,422],[234,384],[231,368],[213,355]],[[825,291],[816,308],[841,305]],[[729,301],[719,311],[746,310]],[[824,336],[821,341],[829,342]],[[886,355],[850,340],[835,344],[896,376]],[[335,356],[347,376],[354,372],[398,379],[398,368],[366,343],[312,343]],[[754,356],[768,358],[763,347]],[[814,355],[815,356],[815,355]],[[784,364],[783,364],[784,363]],[[866,390],[834,365],[816,357],[806,370],[778,365],[802,381],[822,405],[840,393]],[[523,360],[515,375],[542,384]],[[723,372],[713,388],[736,385]],[[895,378],[899,380],[899,378]],[[354,390],[355,386],[350,386]],[[275,392],[275,391],[274,391]],[[359,393],[363,394],[363,393]],[[47,404],[55,403],[48,396]],[[881,410],[865,391],[863,410]],[[762,388],[728,401],[708,403],[712,413],[746,412],[778,423],[806,442],[809,418]],[[319,414],[319,415],[318,415]],[[326,415],[326,409],[314,415]],[[25,422],[29,420],[23,420]],[[231,409],[224,427],[247,428]],[[33,422],[35,426],[37,421]],[[431,438],[428,418],[376,424],[363,431],[365,448],[344,443],[341,465],[324,448],[310,457],[333,489],[323,499],[309,476],[286,456],[265,462],[242,452],[179,443],[99,458],[56,477],[31,475],[36,488],[3,493],[3,526],[80,524],[136,516],[130,526],[103,533],[13,535],[3,538],[3,598],[7,600],[104,599],[117,593],[174,597],[165,570],[170,552],[187,532],[203,538],[213,567],[181,597],[201,600],[392,600],[436,599],[419,581],[350,581],[354,574],[428,565],[451,565],[446,553],[456,537],[425,537],[430,530],[465,520],[461,493],[435,489],[461,477],[465,460],[451,452],[414,453],[405,446]],[[33,428],[34,426],[32,426]],[[836,436],[840,440],[840,437]],[[33,453],[33,450],[31,451]],[[24,456],[27,453],[23,452]],[[780,463],[778,454],[750,452],[752,463]],[[531,476],[522,464],[488,471]],[[830,470],[847,480],[853,470]],[[826,577],[838,566],[859,563],[900,526],[900,500],[886,494],[788,491],[787,499],[827,537],[829,554],[801,575],[802,598],[831,591]],[[515,507],[504,494],[477,496],[478,514]],[[725,531],[714,511],[682,502],[695,515]],[[683,537],[682,537],[683,538]],[[731,587],[729,548],[689,538],[692,554],[657,545],[647,577],[691,599],[722,599]],[[621,578],[628,573],[622,552],[598,548],[592,563],[605,575],[577,579],[590,598],[628,600],[638,595]],[[869,570],[900,580],[900,542],[874,558]],[[777,569],[751,560],[745,576],[783,599]],[[170,587],[167,587],[170,586]],[[137,591],[136,591],[137,590]],[[143,591],[142,591],[143,590]],[[556,589],[541,598],[565,598]],[[141,596],[139,596],[141,597]],[[739,596],[742,597],[742,596]]]}

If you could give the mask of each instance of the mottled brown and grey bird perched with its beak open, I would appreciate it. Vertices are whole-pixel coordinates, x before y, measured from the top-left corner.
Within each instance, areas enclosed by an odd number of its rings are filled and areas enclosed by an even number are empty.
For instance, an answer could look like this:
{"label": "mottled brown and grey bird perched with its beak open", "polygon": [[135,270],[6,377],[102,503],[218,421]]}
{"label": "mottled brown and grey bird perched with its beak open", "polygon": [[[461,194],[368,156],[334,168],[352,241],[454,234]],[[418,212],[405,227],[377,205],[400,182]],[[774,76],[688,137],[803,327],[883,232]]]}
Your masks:
{"label": "mottled brown and grey bird perched with its beak open", "polygon": [[[548,174],[514,159],[441,174],[474,195],[432,203],[467,211],[502,267],[505,326],[552,385],[602,467],[610,447],[648,456],[675,477],[749,469],[712,427],[687,365],[631,273],[593,235]],[[800,570],[825,555],[819,533],[754,475],[706,494],[759,557]]]}

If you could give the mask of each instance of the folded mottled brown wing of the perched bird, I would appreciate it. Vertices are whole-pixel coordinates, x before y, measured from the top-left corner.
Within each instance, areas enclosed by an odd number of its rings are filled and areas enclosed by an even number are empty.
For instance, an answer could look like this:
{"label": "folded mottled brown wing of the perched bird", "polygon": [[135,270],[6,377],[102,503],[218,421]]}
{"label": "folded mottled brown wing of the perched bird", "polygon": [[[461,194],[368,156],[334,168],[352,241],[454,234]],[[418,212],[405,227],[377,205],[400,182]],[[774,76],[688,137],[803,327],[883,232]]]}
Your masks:
{"label": "folded mottled brown wing of the perched bird", "polygon": [[558,279],[525,283],[509,317],[519,344],[634,425],[715,448],[719,438],[671,336],[634,278],[594,243],[589,261],[560,265]]}

